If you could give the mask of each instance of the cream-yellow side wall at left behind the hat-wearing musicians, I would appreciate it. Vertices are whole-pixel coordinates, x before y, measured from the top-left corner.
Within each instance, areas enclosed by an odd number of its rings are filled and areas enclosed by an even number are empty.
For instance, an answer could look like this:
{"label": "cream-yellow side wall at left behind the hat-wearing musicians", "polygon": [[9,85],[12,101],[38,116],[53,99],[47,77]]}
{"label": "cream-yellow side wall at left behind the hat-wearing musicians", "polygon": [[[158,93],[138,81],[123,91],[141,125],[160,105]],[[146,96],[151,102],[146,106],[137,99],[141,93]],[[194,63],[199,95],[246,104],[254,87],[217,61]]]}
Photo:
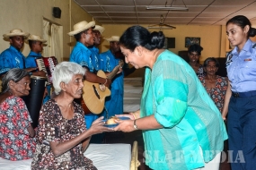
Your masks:
{"label": "cream-yellow side wall at left behind the hat-wearing musicians", "polygon": [[[53,7],[61,9],[60,19],[52,16]],[[75,42],[75,38],[70,38],[67,32],[73,30],[73,25],[78,21],[93,20],[93,17],[73,0],[1,0],[0,36],[13,29],[22,29],[24,32],[42,36],[43,18],[63,26],[63,58],[69,58]],[[0,40],[0,53],[9,46],[9,41]],[[27,56],[29,52],[30,48],[25,44],[22,54]]]}

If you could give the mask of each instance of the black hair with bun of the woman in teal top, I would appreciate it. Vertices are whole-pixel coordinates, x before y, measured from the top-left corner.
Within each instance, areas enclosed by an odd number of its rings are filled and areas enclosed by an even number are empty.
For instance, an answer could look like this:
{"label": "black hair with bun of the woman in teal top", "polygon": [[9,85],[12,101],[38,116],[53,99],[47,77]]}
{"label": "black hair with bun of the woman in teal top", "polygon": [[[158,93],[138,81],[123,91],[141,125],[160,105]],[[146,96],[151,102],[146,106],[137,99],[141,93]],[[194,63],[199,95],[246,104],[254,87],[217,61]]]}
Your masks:
{"label": "black hair with bun of the woman in teal top", "polygon": [[150,33],[144,27],[132,26],[119,38],[123,47],[134,51],[138,46],[146,47],[148,50],[161,49],[164,46],[164,35],[162,31]]}

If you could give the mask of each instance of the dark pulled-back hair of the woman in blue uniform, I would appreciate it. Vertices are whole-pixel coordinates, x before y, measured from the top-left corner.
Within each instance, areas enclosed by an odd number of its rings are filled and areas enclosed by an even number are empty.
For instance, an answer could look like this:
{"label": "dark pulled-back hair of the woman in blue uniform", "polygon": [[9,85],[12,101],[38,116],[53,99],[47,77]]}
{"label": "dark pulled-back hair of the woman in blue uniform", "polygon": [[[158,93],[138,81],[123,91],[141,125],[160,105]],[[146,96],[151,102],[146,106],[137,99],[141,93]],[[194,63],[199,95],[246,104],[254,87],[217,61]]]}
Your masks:
{"label": "dark pulled-back hair of the woman in blue uniform", "polygon": [[248,31],[248,38],[254,37],[256,35],[256,29],[252,28],[251,21],[249,21],[249,19],[243,15],[234,16],[232,19],[226,22],[225,26],[227,26],[229,23],[234,23],[235,25],[238,25],[242,29],[244,29],[246,25],[249,25],[250,30]]}

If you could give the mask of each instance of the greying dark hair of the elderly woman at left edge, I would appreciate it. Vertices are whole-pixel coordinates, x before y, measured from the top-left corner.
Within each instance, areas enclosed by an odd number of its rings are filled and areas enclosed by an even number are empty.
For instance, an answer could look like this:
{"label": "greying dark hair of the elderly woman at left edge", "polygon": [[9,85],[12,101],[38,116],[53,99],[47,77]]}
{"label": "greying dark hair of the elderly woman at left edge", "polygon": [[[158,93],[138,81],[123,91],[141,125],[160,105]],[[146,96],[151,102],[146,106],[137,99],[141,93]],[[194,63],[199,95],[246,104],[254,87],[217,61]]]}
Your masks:
{"label": "greying dark hair of the elderly woman at left edge", "polygon": [[8,91],[9,88],[9,82],[14,81],[18,82],[23,79],[23,77],[29,76],[30,73],[19,68],[13,68],[5,73],[3,79],[2,79],[2,93]]}

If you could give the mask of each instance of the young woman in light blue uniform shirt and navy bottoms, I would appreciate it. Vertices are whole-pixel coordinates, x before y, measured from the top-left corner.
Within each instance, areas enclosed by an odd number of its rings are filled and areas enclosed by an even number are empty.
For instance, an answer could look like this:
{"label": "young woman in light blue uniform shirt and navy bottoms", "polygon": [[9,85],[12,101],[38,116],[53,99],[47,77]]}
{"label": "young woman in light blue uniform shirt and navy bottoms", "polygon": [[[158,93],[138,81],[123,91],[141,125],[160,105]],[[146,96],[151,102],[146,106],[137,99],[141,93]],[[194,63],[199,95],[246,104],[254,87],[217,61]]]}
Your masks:
{"label": "young woman in light blue uniform shirt and navy bottoms", "polygon": [[227,55],[228,88],[223,118],[227,130],[232,170],[255,169],[256,162],[256,45],[255,29],[243,15],[226,22],[226,34],[234,49]]}

